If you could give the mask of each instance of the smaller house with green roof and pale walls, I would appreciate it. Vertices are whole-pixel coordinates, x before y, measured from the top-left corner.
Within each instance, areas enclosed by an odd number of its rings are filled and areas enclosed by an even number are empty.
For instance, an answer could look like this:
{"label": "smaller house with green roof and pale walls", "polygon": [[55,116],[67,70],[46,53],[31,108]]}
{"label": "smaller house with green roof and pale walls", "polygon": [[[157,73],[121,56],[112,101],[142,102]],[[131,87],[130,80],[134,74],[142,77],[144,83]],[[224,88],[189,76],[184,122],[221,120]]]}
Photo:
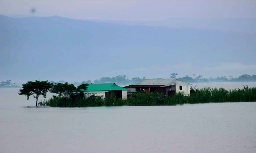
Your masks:
{"label": "smaller house with green roof and pale walls", "polygon": [[111,95],[115,95],[116,98],[127,99],[127,91],[128,89],[120,87],[115,83],[93,83],[87,86],[87,90],[85,90],[85,97],[88,98],[91,95],[110,97]]}

